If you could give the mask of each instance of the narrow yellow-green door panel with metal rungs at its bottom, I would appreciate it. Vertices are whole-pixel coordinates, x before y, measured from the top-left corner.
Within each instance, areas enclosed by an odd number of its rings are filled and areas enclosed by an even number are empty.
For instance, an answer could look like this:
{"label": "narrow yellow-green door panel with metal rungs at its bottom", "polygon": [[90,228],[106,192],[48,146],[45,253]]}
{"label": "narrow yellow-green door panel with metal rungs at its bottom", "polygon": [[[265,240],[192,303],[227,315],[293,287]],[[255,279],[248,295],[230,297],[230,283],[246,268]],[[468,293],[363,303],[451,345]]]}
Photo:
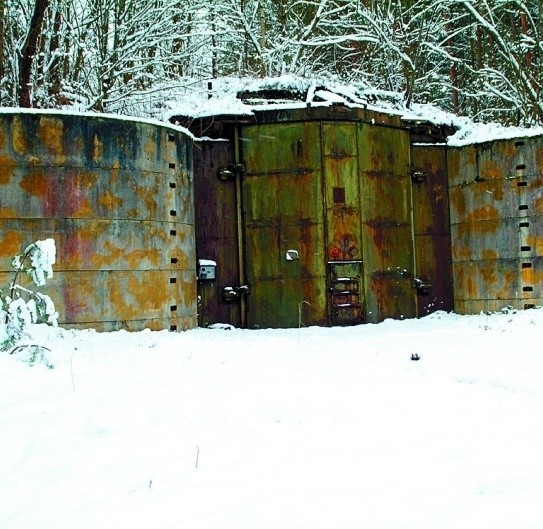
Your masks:
{"label": "narrow yellow-green door panel with metal rungs at its bottom", "polygon": [[331,325],[362,323],[360,187],[354,123],[322,123],[322,166]]}

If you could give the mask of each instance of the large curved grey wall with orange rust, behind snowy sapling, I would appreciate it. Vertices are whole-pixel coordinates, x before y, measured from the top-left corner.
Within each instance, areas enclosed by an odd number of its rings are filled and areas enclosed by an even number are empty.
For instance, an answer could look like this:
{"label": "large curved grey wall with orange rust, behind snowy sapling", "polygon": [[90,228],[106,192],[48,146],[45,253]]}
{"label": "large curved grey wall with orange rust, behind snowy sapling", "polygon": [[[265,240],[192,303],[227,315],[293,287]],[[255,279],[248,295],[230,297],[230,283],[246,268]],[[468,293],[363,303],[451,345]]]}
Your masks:
{"label": "large curved grey wall with orange rust, behind snowy sapling", "polygon": [[0,281],[31,242],[57,246],[60,323],[196,326],[192,144],[102,116],[0,114]]}

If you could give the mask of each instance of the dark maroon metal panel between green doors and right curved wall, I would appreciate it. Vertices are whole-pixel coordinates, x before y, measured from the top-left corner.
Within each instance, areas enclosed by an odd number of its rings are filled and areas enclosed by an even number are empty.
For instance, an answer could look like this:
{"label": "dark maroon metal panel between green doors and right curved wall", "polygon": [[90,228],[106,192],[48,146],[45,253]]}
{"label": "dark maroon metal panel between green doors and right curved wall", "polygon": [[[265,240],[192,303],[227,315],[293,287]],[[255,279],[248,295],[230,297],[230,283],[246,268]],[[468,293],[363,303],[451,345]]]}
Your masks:
{"label": "dark maroon metal panel between green doors and right curved wall", "polygon": [[425,316],[454,308],[446,146],[414,144],[411,171],[417,315]]}

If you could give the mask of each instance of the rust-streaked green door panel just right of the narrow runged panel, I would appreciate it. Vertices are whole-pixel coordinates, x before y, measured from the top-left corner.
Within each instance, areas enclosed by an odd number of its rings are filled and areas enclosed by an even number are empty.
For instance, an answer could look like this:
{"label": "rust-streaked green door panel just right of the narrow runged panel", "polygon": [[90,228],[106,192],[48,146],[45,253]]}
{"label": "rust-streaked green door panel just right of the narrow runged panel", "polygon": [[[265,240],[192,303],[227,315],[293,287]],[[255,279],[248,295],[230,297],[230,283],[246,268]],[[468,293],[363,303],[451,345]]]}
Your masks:
{"label": "rust-streaked green door panel just right of the narrow runged panel", "polygon": [[360,124],[358,136],[367,321],[414,317],[409,134]]}

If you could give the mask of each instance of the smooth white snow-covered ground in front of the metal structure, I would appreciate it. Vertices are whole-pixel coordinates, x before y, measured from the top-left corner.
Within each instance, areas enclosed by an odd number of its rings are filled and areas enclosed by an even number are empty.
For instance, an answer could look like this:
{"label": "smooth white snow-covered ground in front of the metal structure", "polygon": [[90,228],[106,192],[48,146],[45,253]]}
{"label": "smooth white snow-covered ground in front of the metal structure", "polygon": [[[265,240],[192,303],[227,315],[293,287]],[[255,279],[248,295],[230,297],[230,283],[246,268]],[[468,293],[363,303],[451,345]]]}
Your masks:
{"label": "smooth white snow-covered ground in front of the metal structure", "polygon": [[54,369],[0,354],[2,529],[543,527],[542,309],[32,334]]}

